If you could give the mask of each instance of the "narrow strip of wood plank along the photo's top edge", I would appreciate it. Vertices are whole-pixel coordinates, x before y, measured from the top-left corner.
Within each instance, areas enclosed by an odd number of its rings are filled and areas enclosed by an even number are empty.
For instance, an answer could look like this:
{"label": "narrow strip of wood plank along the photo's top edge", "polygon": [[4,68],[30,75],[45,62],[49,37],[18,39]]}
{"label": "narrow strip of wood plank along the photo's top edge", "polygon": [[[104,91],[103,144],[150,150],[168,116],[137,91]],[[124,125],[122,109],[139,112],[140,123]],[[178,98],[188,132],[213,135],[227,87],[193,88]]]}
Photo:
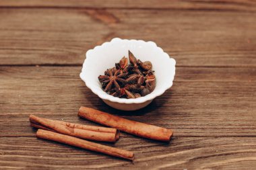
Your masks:
{"label": "narrow strip of wood plank along the photo's top edge", "polygon": [[199,9],[199,10],[234,10],[255,11],[255,1],[222,0],[222,1],[68,1],[68,0],[2,0],[1,7],[83,7],[83,8],[125,8],[125,9]]}

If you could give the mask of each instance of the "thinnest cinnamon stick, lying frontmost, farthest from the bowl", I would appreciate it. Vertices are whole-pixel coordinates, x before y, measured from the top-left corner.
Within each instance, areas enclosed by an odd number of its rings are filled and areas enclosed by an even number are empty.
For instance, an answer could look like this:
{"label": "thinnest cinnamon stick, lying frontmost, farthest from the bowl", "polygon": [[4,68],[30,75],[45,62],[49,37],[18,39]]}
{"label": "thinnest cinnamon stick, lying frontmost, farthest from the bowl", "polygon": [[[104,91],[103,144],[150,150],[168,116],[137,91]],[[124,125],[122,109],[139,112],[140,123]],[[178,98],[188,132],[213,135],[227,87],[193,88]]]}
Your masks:
{"label": "thinnest cinnamon stick, lying frontmost, farthest from the bowl", "polygon": [[87,140],[82,140],[80,138],[75,138],[73,136],[51,132],[49,130],[38,129],[38,131],[36,132],[36,137],[44,138],[47,140],[53,140],[55,142],[61,142],[64,144],[69,144],[71,146],[77,146],[79,148],[85,148],[90,151],[104,153],[106,155],[111,155],[114,157],[120,157],[129,160],[134,159],[134,153],[131,151],[126,151],[120,148],[113,148],[110,146],[89,142]]}

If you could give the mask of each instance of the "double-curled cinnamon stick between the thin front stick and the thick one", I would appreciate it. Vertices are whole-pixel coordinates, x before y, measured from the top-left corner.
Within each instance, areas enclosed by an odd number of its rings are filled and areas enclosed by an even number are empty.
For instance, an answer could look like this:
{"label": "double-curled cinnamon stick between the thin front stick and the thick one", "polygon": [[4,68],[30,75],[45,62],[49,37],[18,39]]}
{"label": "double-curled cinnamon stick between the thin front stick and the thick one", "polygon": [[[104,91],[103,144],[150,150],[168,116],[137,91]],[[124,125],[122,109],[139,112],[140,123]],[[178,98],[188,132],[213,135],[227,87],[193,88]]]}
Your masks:
{"label": "double-curled cinnamon stick between the thin front stick and the thick one", "polygon": [[[61,134],[67,134],[69,136],[75,136],[78,138],[85,138],[89,140],[115,142],[119,138],[118,130],[115,130],[115,133],[97,132],[92,130],[81,129],[81,127],[85,127],[85,126],[82,126],[79,124],[71,124],[72,126],[67,126],[67,125],[70,125],[70,123],[61,122],[60,124],[59,121],[39,118],[38,116],[34,116],[34,115],[30,115],[30,122],[34,127],[38,126],[38,128],[44,128],[45,130],[52,130],[55,132],[59,132]],[[80,127],[80,128],[73,128],[73,127]]]}

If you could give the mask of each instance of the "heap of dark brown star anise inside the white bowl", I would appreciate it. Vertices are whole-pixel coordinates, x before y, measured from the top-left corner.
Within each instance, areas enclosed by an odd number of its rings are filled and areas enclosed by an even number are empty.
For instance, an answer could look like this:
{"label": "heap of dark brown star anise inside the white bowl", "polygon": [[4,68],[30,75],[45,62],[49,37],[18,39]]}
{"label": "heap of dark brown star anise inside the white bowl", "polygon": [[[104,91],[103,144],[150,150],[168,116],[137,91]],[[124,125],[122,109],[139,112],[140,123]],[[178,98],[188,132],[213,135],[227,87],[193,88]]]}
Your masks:
{"label": "heap of dark brown star anise inside the white bowl", "polygon": [[112,69],[107,69],[98,80],[102,89],[114,97],[135,99],[154,91],[156,77],[150,61],[137,60],[129,51],[129,60],[125,56]]}

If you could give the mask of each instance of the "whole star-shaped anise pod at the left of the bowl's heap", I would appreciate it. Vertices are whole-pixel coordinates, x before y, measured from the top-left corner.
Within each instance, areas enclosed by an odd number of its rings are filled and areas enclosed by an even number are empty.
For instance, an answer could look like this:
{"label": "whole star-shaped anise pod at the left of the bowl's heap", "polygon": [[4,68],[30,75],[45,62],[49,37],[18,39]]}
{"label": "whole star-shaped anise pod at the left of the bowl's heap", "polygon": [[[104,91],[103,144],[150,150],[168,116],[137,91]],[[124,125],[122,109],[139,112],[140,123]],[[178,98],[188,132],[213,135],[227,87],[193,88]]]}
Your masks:
{"label": "whole star-shaped anise pod at the left of the bowl's heap", "polygon": [[121,83],[122,85],[125,85],[126,83],[125,79],[121,79],[121,78],[126,77],[127,75],[128,73],[121,74],[120,71],[115,68],[107,69],[105,72],[105,75],[100,75],[98,77],[98,80],[100,81],[100,83],[102,83],[102,85],[104,84],[106,85],[106,87],[104,88],[104,91],[107,92],[107,91],[110,91],[113,85],[115,85],[117,89],[121,89],[119,83]]}

